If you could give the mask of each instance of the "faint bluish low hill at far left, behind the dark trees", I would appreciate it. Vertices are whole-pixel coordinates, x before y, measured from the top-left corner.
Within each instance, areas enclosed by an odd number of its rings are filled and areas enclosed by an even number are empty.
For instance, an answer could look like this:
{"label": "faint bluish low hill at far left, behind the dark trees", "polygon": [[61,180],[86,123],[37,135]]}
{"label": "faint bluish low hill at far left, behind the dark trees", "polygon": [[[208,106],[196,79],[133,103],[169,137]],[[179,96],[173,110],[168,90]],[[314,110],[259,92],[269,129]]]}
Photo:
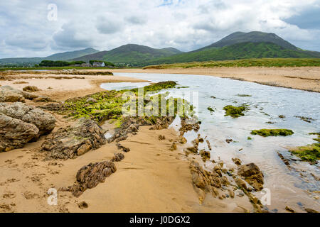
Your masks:
{"label": "faint bluish low hill at far left, behind the dark trees", "polygon": [[60,52],[54,55],[50,55],[48,57],[12,57],[12,58],[2,58],[0,59],[0,64],[21,64],[21,63],[38,63],[42,60],[69,60],[75,57],[81,57],[84,55],[89,55],[95,52],[99,52],[99,50],[95,50],[94,48],[86,48],[83,50],[75,50],[69,52]]}

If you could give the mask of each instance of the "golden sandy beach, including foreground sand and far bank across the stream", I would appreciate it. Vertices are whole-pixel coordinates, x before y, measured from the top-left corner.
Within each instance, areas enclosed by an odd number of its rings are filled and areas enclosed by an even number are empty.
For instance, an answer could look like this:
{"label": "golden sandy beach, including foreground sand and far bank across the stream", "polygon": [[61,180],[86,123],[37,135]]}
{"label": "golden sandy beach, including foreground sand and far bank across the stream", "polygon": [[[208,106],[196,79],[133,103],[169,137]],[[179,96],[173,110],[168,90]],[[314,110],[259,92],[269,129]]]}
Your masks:
{"label": "golden sandy beach, including foreground sand and far bank across the stream", "polygon": [[[284,77],[298,76],[302,70],[309,74],[304,77],[310,79],[288,79]],[[309,71],[308,71],[309,70]],[[269,72],[268,72],[269,71]],[[303,72],[306,72],[303,71]],[[191,70],[112,70],[112,72],[149,72],[149,73],[179,73],[179,74],[218,74],[220,77],[236,77],[248,81],[265,78],[262,72],[272,74],[274,81],[281,83],[287,78],[288,86],[308,88],[310,86],[319,92],[319,68],[283,70],[259,69],[220,69],[220,71],[206,69]],[[238,72],[236,74],[235,72]],[[259,74],[250,76],[252,72]],[[287,72],[290,72],[286,74]],[[33,74],[21,74],[12,80],[2,80],[0,85],[9,85],[21,90],[28,85],[41,89],[33,94],[46,95],[57,101],[85,96],[100,92],[101,83],[105,82],[144,82],[140,79],[117,76],[77,76],[73,79],[55,79],[56,74],[46,74],[45,78],[34,77]],[[71,77],[71,76],[70,76]],[[270,78],[270,77],[268,77]],[[285,80],[285,79],[284,79]],[[298,80],[305,82],[299,84]],[[274,82],[273,80],[267,80]],[[295,82],[292,82],[295,81]],[[17,82],[25,82],[24,84]],[[283,81],[284,82],[284,81]],[[310,83],[310,84],[309,84]],[[318,84],[316,84],[318,83]],[[41,106],[46,103],[35,103],[27,100],[26,104]],[[75,120],[62,115],[51,113],[56,123],[53,132],[58,128],[73,126]],[[106,122],[102,128],[112,128]],[[0,212],[254,212],[255,209],[247,196],[221,197],[207,194],[201,199],[197,193],[191,175],[190,163],[196,160],[202,163],[199,155],[186,156],[183,148],[190,144],[178,143],[178,131],[174,128],[164,128],[151,131],[150,126],[142,126],[136,135],[129,135],[122,145],[130,149],[124,153],[124,160],[116,163],[117,172],[107,177],[105,182],[97,187],[87,189],[80,197],[70,192],[60,190],[73,185],[76,174],[82,166],[89,163],[110,160],[117,152],[116,143],[107,143],[97,150],[90,150],[75,159],[45,160],[41,152],[41,145],[47,135],[24,148],[0,153]],[[159,140],[164,135],[164,140]],[[171,150],[171,145],[177,143],[177,149]],[[201,165],[202,165],[201,164]],[[213,169],[215,162],[210,162],[208,168]],[[226,170],[233,170],[235,164],[225,166]],[[232,184],[231,184],[232,186]],[[233,186],[234,187],[234,186]],[[48,205],[48,189],[58,190],[58,205]],[[239,191],[239,190],[238,190]],[[235,187],[235,193],[238,192]],[[223,191],[222,191],[223,192]],[[230,194],[231,195],[231,194]],[[203,200],[203,201],[202,201]],[[85,207],[81,204],[87,204]],[[284,211],[284,210],[282,210]]]}

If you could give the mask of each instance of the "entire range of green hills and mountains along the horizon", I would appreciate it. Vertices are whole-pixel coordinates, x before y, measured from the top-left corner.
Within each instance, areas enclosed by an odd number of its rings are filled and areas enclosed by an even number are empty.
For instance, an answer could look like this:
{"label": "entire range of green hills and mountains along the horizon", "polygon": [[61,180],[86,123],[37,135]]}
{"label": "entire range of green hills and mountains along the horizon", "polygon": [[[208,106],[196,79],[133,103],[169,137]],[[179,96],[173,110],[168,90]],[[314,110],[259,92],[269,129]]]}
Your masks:
{"label": "entire range of green hills and mountains along the horizon", "polygon": [[252,31],[249,33],[235,32],[218,42],[198,50],[181,52],[175,48],[155,49],[144,45],[127,44],[112,50],[98,51],[93,48],[74,52],[63,52],[44,58],[11,58],[0,59],[17,62],[40,62],[41,60],[68,60],[89,62],[104,60],[116,65],[146,66],[176,62],[195,62],[208,60],[237,60],[262,57],[319,57],[320,52],[302,50],[274,33]]}

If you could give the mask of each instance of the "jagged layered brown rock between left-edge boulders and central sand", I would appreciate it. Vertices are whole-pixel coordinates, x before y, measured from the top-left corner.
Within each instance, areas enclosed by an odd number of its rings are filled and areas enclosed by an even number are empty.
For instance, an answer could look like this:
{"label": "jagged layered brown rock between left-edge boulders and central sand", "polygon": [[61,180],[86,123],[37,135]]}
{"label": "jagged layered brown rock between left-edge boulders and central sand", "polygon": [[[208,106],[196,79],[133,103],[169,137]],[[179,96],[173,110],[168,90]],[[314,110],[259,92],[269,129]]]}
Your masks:
{"label": "jagged layered brown rock between left-edge boulders and central sand", "polygon": [[81,118],[75,126],[60,128],[41,145],[48,157],[68,159],[100,148],[106,143],[104,131],[95,121]]}

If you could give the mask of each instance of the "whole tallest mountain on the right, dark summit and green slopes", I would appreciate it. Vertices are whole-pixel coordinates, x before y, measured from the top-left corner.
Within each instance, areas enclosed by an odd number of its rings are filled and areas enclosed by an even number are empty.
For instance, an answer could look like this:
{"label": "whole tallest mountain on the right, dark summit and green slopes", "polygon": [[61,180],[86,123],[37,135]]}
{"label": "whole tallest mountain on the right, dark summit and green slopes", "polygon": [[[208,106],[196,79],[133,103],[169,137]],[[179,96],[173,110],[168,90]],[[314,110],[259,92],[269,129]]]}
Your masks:
{"label": "whole tallest mountain on the right, dark summit and green slopes", "polygon": [[232,33],[216,43],[198,50],[140,62],[145,65],[209,60],[238,60],[265,57],[320,57],[320,52],[302,50],[274,33],[253,31]]}

